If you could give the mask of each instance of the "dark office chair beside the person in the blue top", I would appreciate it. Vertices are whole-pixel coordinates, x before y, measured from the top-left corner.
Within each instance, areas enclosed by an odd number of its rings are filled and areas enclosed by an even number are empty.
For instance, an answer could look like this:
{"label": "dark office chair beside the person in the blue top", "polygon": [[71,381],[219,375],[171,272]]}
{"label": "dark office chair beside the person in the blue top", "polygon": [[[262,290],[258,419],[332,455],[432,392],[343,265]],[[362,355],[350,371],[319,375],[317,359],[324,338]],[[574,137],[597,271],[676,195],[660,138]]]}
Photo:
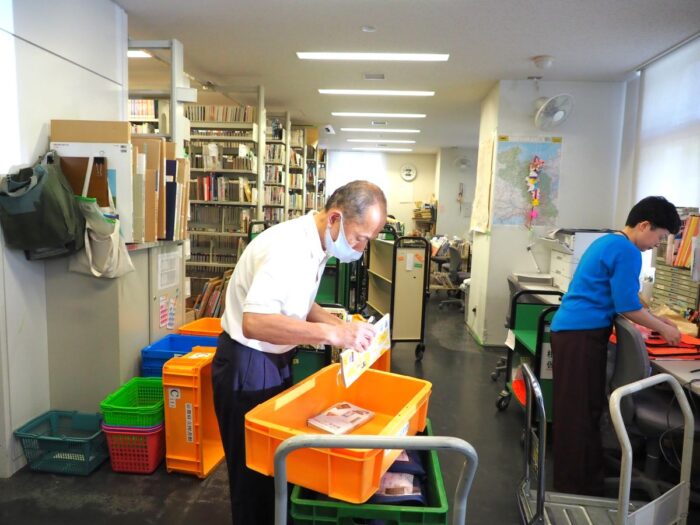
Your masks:
{"label": "dark office chair beside the person in the blue top", "polygon": [[[651,365],[642,334],[622,316],[615,318],[617,348],[615,368],[610,380],[610,391],[651,375]],[[660,480],[659,464],[661,440],[680,431],[683,414],[672,392],[647,389],[626,396],[621,403],[622,416],[630,434],[643,438],[646,448],[644,470],[633,469],[632,487],[644,491],[651,499],[659,497],[673,487],[673,483]],[[695,439],[700,436],[700,419],[695,420]],[[606,487],[616,486],[618,478],[606,478]],[[691,492],[691,500],[700,502],[700,494]]]}

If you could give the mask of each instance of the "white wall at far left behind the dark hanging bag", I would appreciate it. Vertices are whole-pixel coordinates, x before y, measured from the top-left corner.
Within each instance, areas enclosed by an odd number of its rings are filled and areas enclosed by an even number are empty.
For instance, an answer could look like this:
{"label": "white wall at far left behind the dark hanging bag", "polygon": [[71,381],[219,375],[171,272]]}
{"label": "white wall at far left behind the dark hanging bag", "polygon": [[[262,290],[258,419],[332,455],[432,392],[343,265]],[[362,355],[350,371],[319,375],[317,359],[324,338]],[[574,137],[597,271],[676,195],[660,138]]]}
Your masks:
{"label": "white wall at far left behind the dark hanging bag", "polygon": [[[0,28],[0,173],[46,151],[51,119],[123,118],[121,8],[108,0],[6,0]],[[43,263],[4,242],[0,272],[0,476],[9,476],[23,461],[12,431],[49,409],[46,295]]]}

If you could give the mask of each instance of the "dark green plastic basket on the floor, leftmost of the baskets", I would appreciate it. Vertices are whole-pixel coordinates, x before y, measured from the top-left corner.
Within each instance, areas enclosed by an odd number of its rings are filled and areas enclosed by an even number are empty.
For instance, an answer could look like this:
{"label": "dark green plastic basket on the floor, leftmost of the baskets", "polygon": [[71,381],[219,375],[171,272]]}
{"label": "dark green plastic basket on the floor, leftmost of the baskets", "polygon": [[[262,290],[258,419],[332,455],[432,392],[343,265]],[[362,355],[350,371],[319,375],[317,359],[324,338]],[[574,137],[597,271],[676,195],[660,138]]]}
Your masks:
{"label": "dark green plastic basket on the floor, leftmost of the baskets", "polygon": [[109,457],[99,414],[50,410],[15,431],[31,470],[86,476]]}

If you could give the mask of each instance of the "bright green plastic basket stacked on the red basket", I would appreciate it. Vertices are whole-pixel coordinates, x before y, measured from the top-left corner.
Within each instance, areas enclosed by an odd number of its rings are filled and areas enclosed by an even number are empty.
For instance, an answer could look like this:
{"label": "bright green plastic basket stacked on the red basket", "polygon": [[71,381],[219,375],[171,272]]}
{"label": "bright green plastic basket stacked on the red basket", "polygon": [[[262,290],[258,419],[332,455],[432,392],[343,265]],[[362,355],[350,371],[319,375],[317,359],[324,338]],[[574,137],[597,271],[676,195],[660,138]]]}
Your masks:
{"label": "bright green plastic basket stacked on the red basket", "polygon": [[113,427],[155,427],[163,422],[163,380],[135,377],[108,395],[100,409]]}

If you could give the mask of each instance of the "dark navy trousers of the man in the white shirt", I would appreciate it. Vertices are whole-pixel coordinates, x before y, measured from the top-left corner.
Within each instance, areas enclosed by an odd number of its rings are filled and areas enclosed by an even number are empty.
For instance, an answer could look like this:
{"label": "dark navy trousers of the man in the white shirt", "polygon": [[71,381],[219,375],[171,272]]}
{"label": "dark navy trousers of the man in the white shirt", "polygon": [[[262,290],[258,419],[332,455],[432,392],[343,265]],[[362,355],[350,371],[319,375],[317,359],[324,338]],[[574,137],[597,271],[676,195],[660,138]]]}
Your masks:
{"label": "dark navy trousers of the man in the white shirt", "polygon": [[245,464],[245,414],[292,385],[293,352],[268,354],[219,336],[212,363],[214,409],[226,454],[234,525],[273,525],[273,478]]}

